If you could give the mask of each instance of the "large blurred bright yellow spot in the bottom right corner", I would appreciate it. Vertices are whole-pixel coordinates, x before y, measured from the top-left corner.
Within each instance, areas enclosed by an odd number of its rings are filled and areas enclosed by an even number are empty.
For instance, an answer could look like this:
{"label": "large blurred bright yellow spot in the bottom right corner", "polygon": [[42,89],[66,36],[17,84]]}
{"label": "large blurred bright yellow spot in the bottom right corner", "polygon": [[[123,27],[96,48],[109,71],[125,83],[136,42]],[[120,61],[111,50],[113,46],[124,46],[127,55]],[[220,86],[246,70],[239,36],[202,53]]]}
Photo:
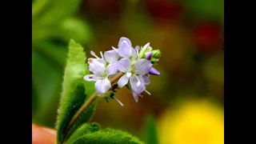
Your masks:
{"label": "large blurred bright yellow spot in the bottom right corner", "polygon": [[210,102],[187,102],[158,123],[161,144],[223,144],[224,113]]}

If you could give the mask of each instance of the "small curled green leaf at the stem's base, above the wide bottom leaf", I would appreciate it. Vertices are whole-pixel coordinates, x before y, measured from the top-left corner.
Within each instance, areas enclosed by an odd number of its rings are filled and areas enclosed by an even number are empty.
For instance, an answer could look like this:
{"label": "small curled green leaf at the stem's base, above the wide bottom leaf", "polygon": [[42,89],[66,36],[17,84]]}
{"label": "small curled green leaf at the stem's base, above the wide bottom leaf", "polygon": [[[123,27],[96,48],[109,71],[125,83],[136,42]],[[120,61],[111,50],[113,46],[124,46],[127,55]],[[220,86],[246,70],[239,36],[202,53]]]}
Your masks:
{"label": "small curled green leaf at the stem's base, above the wide bottom leaf", "polygon": [[83,124],[66,141],[66,143],[74,143],[78,138],[81,138],[85,134],[91,134],[99,130],[98,123]]}

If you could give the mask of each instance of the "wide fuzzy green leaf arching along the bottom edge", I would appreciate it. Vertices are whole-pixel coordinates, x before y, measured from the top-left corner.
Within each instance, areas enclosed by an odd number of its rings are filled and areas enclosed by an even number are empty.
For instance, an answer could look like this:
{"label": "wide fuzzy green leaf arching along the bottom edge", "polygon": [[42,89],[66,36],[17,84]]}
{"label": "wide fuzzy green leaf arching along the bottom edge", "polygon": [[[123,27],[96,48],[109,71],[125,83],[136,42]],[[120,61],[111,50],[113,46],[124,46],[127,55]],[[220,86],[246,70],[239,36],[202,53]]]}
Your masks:
{"label": "wide fuzzy green leaf arching along the bottom edge", "polygon": [[[127,134],[121,130],[99,130],[91,134],[85,134],[73,142],[74,144],[143,144],[134,136]],[[70,143],[68,143],[70,144]]]}

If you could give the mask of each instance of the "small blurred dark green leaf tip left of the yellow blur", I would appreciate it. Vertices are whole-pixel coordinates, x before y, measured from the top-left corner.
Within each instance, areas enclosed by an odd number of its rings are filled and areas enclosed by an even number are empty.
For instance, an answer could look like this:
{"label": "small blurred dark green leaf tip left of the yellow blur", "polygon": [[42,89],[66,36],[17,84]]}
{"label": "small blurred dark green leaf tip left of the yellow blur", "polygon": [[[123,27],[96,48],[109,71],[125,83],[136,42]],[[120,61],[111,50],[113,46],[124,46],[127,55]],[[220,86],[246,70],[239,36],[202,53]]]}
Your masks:
{"label": "small blurred dark green leaf tip left of the yellow blur", "polygon": [[144,138],[147,144],[158,144],[158,134],[154,118],[146,117],[146,125],[144,130]]}

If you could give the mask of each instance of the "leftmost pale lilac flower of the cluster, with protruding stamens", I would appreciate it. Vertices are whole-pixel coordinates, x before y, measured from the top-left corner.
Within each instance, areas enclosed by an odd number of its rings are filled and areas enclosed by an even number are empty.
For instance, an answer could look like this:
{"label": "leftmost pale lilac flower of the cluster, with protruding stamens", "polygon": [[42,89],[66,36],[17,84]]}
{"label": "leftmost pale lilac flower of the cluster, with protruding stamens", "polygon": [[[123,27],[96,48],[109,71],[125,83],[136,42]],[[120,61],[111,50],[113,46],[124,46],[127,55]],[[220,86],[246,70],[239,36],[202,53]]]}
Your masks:
{"label": "leftmost pale lilac flower of the cluster, with protruding stamens", "polygon": [[104,94],[107,90],[110,90],[111,87],[108,76],[118,73],[118,61],[112,62],[110,65],[106,66],[106,61],[103,58],[102,52],[102,58],[98,58],[93,51],[91,51],[91,54],[96,57],[88,58],[88,68],[93,74],[87,74],[83,79],[89,82],[94,81],[94,86],[98,94]]}

